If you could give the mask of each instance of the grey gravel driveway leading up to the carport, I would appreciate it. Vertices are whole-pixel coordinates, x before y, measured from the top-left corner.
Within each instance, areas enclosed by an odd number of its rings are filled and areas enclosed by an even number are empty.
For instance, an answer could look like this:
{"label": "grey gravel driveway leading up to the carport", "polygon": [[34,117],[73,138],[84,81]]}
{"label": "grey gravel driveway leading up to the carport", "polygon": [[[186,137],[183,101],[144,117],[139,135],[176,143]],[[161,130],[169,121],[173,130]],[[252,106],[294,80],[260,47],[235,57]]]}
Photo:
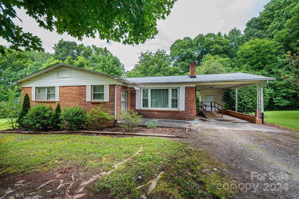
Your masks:
{"label": "grey gravel driveway leading up to the carport", "polygon": [[[227,165],[234,198],[299,198],[299,134],[229,116],[202,119],[184,140]],[[190,139],[191,138],[191,139]]]}

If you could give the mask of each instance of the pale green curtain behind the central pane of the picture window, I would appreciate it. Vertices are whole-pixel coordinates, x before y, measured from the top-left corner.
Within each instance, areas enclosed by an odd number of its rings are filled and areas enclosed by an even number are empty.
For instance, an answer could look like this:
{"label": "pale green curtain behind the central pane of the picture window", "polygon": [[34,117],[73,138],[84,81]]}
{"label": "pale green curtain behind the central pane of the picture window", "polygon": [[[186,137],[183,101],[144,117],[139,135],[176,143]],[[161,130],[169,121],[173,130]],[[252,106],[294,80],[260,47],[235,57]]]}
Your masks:
{"label": "pale green curtain behind the central pane of the picture window", "polygon": [[168,89],[151,89],[151,108],[168,108]]}

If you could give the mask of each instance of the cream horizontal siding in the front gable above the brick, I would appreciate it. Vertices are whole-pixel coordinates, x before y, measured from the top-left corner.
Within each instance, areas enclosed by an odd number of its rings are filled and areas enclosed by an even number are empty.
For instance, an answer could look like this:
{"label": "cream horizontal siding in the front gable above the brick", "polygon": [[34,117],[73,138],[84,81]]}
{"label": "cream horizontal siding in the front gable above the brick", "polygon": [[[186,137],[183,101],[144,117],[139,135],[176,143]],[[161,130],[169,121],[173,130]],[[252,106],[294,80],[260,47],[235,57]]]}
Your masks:
{"label": "cream horizontal siding in the front gable above the brick", "polygon": [[21,83],[22,87],[32,86],[81,86],[81,85],[105,85],[117,84],[114,77],[101,75],[81,69],[71,68],[70,78],[57,78],[57,70],[70,69],[68,66],[60,66],[49,72],[33,77]]}

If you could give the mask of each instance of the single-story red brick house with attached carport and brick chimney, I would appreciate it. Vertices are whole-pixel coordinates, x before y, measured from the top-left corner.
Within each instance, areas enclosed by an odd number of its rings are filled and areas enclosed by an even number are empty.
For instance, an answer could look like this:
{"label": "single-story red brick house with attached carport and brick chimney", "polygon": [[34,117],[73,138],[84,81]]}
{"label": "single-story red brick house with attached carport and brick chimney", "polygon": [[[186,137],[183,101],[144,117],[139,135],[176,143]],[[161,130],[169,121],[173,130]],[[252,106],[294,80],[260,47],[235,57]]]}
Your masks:
{"label": "single-story red brick house with attached carport and brick chimney", "polygon": [[252,84],[259,88],[257,110],[260,113],[263,81],[270,80],[275,78],[239,72],[196,75],[196,62],[190,63],[190,75],[141,78],[121,78],[56,63],[14,83],[21,86],[22,99],[26,92],[29,94],[31,106],[47,103],[55,107],[59,102],[61,107],[81,106],[90,110],[103,103],[104,108],[114,112],[115,119],[120,110],[134,109],[144,118],[194,120],[197,91],[200,92],[198,112],[205,115],[207,111],[225,113],[223,91]]}

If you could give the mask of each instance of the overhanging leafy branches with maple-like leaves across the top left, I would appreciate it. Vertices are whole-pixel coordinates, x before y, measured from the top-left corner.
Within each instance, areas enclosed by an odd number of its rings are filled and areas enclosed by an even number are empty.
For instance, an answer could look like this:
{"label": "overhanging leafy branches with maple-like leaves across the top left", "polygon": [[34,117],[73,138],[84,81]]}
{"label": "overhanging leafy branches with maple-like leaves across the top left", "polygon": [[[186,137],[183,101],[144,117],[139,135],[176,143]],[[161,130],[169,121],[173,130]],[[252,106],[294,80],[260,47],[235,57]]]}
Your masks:
{"label": "overhanging leafy branches with maple-like leaves across the top left", "polygon": [[[123,44],[144,43],[158,34],[157,20],[165,19],[176,0],[19,0],[1,1],[0,36],[11,43],[10,48],[42,51],[41,40],[12,21],[17,18],[14,7],[24,8],[39,26],[58,34],[68,33],[82,40],[84,36]],[[4,46],[0,45],[4,53]]]}

